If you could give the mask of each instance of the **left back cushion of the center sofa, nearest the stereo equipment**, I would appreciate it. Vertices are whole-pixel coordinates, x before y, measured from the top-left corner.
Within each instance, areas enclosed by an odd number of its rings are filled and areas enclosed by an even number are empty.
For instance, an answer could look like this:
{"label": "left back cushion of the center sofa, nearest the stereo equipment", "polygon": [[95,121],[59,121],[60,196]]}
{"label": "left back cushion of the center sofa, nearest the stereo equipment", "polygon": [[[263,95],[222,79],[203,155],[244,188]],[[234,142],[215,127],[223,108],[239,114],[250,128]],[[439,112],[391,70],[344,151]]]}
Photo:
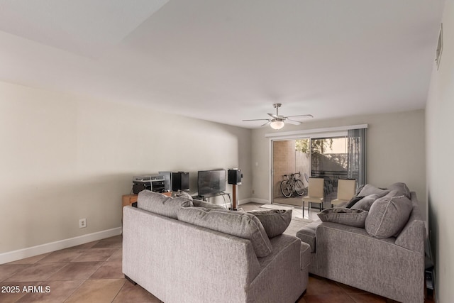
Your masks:
{"label": "left back cushion of the center sofa, nearest the stereo equipment", "polygon": [[187,197],[167,197],[164,194],[143,190],[137,197],[137,207],[145,211],[168,216],[172,219],[178,218],[178,209],[180,207],[192,206],[192,201]]}

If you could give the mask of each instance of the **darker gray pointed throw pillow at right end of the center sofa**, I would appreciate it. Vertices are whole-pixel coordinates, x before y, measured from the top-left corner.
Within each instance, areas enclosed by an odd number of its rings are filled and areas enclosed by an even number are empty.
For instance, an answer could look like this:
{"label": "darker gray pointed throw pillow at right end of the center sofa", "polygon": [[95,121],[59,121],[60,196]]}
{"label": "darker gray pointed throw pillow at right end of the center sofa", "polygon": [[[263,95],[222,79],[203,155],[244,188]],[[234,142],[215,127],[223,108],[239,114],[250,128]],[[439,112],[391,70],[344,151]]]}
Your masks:
{"label": "darker gray pointed throw pillow at right end of the center sofa", "polygon": [[289,227],[292,221],[292,209],[270,209],[266,211],[250,211],[250,214],[258,217],[262,223],[268,238],[282,235],[282,233]]}

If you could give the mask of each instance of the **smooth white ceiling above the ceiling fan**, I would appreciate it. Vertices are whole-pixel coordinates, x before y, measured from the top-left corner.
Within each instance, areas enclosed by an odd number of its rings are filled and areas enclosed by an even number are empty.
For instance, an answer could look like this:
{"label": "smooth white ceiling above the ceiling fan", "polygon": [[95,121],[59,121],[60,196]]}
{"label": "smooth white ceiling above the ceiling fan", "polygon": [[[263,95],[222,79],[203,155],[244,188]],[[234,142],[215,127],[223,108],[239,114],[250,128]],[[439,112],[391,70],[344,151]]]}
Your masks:
{"label": "smooth white ceiling above the ceiling fan", "polygon": [[0,0],[0,79],[258,127],[423,109],[443,0]]}

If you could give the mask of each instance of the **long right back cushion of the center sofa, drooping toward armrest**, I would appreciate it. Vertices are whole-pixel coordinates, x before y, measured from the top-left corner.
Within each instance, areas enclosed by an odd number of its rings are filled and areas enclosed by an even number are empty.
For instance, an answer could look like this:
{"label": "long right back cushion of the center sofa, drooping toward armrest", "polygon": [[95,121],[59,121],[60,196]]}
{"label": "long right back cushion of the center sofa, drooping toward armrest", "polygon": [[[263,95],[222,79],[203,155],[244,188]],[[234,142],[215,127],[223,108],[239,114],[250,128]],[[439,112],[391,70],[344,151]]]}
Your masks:
{"label": "long right back cushion of the center sofa, drooping toward armrest", "polygon": [[178,220],[248,239],[253,244],[255,255],[258,257],[265,257],[272,252],[265,228],[253,214],[201,207],[181,207],[178,211]]}

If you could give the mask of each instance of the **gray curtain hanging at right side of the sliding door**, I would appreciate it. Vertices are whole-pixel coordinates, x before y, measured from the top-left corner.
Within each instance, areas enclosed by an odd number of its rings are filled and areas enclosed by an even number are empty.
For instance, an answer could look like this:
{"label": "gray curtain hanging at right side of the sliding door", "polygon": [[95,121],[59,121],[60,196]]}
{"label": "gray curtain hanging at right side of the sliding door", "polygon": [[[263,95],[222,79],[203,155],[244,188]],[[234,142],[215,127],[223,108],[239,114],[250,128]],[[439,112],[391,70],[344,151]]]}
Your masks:
{"label": "gray curtain hanging at right side of the sliding door", "polygon": [[366,129],[348,130],[348,178],[360,187],[366,184]]}

